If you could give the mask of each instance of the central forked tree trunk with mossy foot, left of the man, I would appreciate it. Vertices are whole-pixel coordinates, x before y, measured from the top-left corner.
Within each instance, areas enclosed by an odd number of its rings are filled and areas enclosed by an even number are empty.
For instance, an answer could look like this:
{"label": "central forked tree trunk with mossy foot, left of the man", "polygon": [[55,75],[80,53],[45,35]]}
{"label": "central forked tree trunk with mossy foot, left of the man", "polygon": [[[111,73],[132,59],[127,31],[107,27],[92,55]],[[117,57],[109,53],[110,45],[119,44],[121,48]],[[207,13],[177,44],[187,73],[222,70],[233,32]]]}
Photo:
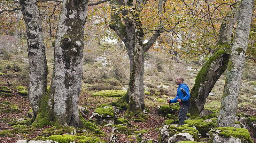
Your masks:
{"label": "central forked tree trunk with mossy foot, left of the man", "polygon": [[[126,114],[134,113],[137,115],[141,112],[146,112],[144,104],[144,88],[143,88],[143,75],[144,75],[144,54],[154,44],[156,38],[160,36],[161,30],[156,31],[150,38],[148,43],[143,44],[144,33],[139,19],[139,12],[141,6],[145,5],[146,1],[136,0],[134,13],[131,14],[134,23],[129,19],[129,12],[126,9],[122,10],[122,14],[127,16],[122,20],[117,12],[111,14],[111,24],[109,27],[113,29],[119,38],[124,42],[130,59],[130,82],[127,93],[120,98],[114,105],[127,108]],[[119,6],[134,6],[132,0],[111,0],[109,2],[111,7],[115,9]],[[162,0],[160,0],[162,11]],[[158,6],[159,7],[159,6]],[[128,103],[128,105],[127,105]]]}

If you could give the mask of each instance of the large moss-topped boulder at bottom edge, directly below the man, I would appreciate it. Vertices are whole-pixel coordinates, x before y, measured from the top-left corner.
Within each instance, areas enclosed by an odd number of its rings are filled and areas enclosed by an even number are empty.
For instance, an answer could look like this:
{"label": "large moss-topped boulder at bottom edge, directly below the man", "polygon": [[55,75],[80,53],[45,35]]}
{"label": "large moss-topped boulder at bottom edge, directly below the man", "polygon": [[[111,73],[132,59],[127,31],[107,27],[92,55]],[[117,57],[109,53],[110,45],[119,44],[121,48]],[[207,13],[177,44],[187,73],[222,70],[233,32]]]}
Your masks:
{"label": "large moss-topped boulder at bottom edge, directly below the man", "polygon": [[200,141],[200,134],[195,128],[189,127],[188,125],[177,124],[163,126],[159,133],[158,140],[160,143],[179,142],[180,140],[177,138],[180,138],[180,136],[183,136],[184,134],[189,134],[188,136],[190,136],[189,139],[187,138],[186,140]]}

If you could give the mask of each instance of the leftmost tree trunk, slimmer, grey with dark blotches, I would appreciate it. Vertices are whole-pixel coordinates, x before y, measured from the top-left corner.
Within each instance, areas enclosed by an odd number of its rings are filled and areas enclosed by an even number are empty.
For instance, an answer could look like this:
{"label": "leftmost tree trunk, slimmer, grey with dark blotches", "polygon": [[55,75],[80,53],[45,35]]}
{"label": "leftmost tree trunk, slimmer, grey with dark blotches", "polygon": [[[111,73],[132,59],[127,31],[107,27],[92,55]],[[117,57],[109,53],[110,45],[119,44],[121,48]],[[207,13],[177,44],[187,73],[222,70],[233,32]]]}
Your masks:
{"label": "leftmost tree trunk, slimmer, grey with dark blotches", "polygon": [[44,37],[41,18],[36,0],[20,0],[21,11],[26,23],[26,33],[29,56],[29,87],[28,98],[33,109],[34,117],[37,116],[40,99],[46,95],[47,62],[45,56]]}

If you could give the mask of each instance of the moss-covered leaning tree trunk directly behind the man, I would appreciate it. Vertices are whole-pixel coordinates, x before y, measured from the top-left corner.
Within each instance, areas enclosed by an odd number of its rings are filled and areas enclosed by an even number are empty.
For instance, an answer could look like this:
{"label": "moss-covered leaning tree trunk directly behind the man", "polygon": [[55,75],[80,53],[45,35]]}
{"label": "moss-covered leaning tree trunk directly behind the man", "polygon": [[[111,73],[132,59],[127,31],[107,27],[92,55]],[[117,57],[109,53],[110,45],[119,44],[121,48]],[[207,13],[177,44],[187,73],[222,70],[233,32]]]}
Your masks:
{"label": "moss-covered leaning tree trunk directly behind the man", "polygon": [[191,89],[191,108],[189,110],[189,113],[194,117],[199,116],[206,98],[220,75],[227,68],[228,51],[230,50],[231,35],[237,19],[237,13],[238,7],[235,7],[223,19],[217,40],[219,50],[210,57],[196,76],[194,87]]}

